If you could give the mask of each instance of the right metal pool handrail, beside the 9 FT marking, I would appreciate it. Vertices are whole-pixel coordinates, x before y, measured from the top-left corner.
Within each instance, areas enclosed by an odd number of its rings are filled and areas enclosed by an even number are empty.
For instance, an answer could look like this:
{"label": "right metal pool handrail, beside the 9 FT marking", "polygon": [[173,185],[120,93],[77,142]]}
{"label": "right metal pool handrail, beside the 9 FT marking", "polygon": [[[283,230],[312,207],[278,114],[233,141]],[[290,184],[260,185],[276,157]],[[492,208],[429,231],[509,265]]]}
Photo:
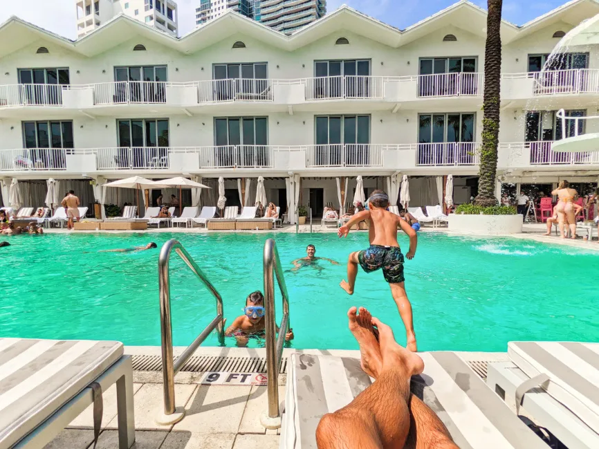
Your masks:
{"label": "right metal pool handrail, beside the 9 FT marking", "polygon": [[[275,323],[275,275],[283,298],[283,318],[277,335]],[[264,244],[264,309],[266,309],[266,389],[268,391],[268,412],[266,422],[268,428],[279,428],[279,366],[283,356],[285,335],[289,327],[289,296],[281,267],[281,259],[275,246],[274,239],[266,240]]]}

